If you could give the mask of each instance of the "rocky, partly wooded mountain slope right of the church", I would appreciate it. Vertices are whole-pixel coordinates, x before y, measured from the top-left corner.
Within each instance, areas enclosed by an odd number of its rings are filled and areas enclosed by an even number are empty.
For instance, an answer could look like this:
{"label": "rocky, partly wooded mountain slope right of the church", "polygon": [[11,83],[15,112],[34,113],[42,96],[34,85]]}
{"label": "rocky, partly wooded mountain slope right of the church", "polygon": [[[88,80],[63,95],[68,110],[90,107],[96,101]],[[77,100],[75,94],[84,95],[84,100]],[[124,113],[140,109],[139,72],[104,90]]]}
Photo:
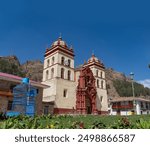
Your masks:
{"label": "rocky, partly wooded mountain slope right of the church", "polygon": [[[106,69],[106,83],[108,97],[131,97],[133,96],[132,80],[123,73],[112,68]],[[133,81],[134,93],[136,97],[150,97],[150,89],[142,84]]]}

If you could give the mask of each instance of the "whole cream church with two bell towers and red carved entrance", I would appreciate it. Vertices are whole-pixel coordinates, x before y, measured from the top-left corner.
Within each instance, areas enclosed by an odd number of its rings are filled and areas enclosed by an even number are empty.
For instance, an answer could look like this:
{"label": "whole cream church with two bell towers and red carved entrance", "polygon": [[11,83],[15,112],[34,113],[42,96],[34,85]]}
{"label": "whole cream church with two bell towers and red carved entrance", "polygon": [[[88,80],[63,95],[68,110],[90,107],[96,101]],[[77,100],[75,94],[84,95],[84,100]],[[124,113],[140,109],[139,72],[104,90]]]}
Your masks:
{"label": "whole cream church with two bell towers and red carved entrance", "polygon": [[82,66],[74,66],[75,52],[61,37],[44,55],[42,83],[44,114],[107,114],[104,64],[92,54]]}

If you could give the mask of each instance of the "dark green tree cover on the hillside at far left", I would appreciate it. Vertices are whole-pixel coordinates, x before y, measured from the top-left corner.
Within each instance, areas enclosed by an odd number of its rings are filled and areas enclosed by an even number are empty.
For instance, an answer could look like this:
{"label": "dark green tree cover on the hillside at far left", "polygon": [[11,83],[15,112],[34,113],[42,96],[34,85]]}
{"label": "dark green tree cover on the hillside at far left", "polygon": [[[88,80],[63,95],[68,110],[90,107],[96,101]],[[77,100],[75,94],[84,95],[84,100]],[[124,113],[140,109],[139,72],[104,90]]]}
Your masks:
{"label": "dark green tree cover on the hillside at far left", "polygon": [[25,73],[20,66],[16,65],[14,62],[10,62],[4,59],[0,60],[0,72],[25,77]]}

